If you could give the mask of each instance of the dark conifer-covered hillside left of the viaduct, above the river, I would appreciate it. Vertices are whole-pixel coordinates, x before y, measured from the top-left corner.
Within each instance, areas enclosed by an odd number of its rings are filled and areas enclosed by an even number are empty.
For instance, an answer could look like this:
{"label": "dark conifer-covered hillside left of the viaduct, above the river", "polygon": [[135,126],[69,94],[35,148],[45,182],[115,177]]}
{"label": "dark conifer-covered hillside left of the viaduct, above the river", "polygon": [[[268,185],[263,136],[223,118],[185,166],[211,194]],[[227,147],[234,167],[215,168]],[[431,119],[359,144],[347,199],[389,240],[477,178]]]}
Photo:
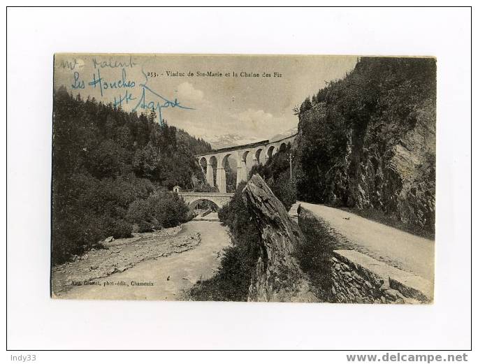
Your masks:
{"label": "dark conifer-covered hillside left of the viaduct, above the river", "polygon": [[[81,254],[109,235],[175,226],[187,208],[169,194],[203,182],[194,154],[211,150],[186,132],[94,99],[55,92],[52,261]],[[191,179],[191,176],[196,178]]]}

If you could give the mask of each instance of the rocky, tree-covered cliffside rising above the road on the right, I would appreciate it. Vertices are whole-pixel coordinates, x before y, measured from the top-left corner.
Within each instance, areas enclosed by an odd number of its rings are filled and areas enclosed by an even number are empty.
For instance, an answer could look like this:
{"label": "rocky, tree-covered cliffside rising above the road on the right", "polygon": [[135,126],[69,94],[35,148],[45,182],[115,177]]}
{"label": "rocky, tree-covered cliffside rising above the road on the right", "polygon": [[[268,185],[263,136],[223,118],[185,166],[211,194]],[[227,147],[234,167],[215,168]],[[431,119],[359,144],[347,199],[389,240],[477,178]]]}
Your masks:
{"label": "rocky, tree-covered cliffside rising above the road on the right", "polygon": [[298,110],[298,198],[435,231],[436,64],[361,58]]}

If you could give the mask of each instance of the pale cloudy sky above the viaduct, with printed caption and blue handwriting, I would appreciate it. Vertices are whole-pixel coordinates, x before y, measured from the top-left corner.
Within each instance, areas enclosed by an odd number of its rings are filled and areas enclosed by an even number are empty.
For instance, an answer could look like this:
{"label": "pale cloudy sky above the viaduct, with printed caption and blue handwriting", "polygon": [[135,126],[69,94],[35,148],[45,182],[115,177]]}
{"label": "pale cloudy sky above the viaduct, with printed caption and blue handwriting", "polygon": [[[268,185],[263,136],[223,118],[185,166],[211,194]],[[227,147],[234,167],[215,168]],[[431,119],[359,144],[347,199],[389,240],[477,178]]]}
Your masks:
{"label": "pale cloudy sky above the viaduct, with printed caption and blue handwriting", "polygon": [[296,128],[294,105],[343,78],[356,61],[355,56],[55,54],[54,82],[55,89],[64,85],[74,95],[138,114],[154,108],[169,125],[206,141],[229,136],[238,144]]}

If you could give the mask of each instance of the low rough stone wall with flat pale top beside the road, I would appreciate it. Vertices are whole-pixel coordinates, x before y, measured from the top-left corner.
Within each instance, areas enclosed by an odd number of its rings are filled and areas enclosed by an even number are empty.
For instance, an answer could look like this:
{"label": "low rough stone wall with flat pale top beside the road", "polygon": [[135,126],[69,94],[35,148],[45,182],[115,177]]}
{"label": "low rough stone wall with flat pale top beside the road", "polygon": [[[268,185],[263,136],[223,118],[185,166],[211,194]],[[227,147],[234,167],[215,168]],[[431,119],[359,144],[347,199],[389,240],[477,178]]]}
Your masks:
{"label": "low rough stone wall with flat pale top beside the road", "polygon": [[331,258],[332,294],[338,303],[430,303],[429,282],[354,250]]}

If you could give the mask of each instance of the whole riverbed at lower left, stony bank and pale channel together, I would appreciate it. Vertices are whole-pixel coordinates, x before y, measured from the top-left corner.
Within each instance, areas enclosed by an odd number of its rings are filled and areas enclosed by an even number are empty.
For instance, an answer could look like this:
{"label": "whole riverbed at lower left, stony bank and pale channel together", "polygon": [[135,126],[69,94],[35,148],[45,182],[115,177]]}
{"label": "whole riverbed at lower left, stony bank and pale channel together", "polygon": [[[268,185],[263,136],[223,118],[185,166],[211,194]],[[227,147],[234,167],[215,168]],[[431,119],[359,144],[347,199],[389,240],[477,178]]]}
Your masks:
{"label": "whole riverbed at lower left, stony bank and pale channel together", "polygon": [[113,240],[52,269],[54,298],[181,299],[185,289],[212,276],[230,243],[219,221]]}

